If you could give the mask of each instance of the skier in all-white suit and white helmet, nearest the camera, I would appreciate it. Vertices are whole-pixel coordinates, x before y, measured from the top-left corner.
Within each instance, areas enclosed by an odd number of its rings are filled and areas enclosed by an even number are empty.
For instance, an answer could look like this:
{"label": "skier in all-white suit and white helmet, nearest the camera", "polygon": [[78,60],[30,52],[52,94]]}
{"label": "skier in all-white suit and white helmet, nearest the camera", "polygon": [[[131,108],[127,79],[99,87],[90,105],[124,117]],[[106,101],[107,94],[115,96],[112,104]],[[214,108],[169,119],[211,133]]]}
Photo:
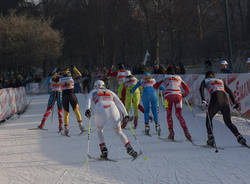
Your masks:
{"label": "skier in all-white suit and white helmet, nearest the camera", "polygon": [[117,95],[112,91],[106,89],[105,84],[102,80],[97,80],[94,83],[94,88],[88,96],[87,110],[85,111],[85,116],[91,118],[91,101],[95,104],[95,125],[97,128],[99,146],[101,150],[101,158],[107,158],[108,149],[105,145],[103,129],[106,123],[112,123],[115,133],[120,136],[122,143],[127,149],[127,153],[136,158],[138,156],[137,152],[134,151],[127,136],[122,132],[121,129],[121,113],[124,115],[125,119],[129,119],[126,108],[123,103],[119,100]]}

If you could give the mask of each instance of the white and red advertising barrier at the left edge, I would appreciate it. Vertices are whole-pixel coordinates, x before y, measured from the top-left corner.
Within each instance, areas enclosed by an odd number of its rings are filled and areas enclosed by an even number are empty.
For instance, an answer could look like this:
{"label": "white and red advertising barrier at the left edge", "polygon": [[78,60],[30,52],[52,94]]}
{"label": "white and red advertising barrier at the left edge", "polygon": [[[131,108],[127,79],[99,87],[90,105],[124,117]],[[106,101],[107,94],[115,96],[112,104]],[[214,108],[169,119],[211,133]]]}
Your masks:
{"label": "white and red advertising barrier at the left edge", "polygon": [[22,112],[27,105],[24,87],[0,89],[0,121]]}

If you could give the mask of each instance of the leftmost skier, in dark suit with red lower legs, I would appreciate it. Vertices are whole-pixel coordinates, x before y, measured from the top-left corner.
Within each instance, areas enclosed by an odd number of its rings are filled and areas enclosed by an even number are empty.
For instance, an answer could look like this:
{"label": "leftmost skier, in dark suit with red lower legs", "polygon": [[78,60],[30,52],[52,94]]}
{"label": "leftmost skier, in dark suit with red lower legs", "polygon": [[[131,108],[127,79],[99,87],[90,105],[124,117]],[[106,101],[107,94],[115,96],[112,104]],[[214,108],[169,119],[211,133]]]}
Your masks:
{"label": "leftmost skier, in dark suit with red lower legs", "polygon": [[47,110],[45,112],[45,114],[43,115],[43,119],[41,121],[41,124],[38,126],[38,128],[43,129],[45,122],[48,118],[48,116],[50,115],[55,102],[57,102],[57,108],[58,108],[58,120],[59,120],[59,127],[58,127],[58,131],[61,132],[62,131],[62,124],[63,124],[63,120],[62,120],[62,89],[61,89],[61,85],[59,83],[59,78],[60,75],[57,72],[54,72],[52,74],[52,77],[50,79],[50,97],[49,97],[49,101],[48,101],[48,106],[47,106]]}

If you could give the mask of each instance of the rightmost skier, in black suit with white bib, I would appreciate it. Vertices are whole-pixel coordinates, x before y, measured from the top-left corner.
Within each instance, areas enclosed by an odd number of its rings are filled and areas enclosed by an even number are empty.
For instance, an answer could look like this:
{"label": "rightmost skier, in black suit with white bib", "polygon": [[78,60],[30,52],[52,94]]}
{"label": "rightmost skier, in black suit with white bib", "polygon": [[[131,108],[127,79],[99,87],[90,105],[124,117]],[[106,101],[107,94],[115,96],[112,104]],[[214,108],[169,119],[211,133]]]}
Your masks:
{"label": "rightmost skier, in black suit with white bib", "polygon": [[[209,103],[206,101],[204,96],[205,88],[210,93]],[[233,103],[233,108],[238,109],[240,107],[240,104],[235,101],[234,95],[232,91],[229,89],[229,87],[221,79],[216,79],[212,71],[208,71],[206,73],[205,79],[202,81],[200,86],[202,105],[208,108],[208,114],[206,117],[206,127],[208,136],[207,144],[210,146],[215,146],[214,136],[212,133],[213,129],[212,119],[218,111],[221,111],[225,124],[235,135],[237,141],[242,145],[246,145],[246,139],[242,137],[236,126],[231,121],[229,101],[226,93],[229,94],[229,97]],[[210,126],[210,123],[212,127]]]}

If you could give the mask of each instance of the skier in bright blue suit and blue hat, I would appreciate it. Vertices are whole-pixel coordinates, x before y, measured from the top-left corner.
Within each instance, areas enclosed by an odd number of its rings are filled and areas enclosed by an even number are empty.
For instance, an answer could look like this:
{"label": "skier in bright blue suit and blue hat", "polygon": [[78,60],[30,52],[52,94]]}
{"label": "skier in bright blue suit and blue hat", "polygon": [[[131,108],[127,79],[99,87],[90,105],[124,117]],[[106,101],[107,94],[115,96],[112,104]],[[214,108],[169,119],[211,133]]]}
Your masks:
{"label": "skier in bright blue suit and blue hat", "polygon": [[145,120],[145,134],[149,135],[149,111],[150,105],[154,117],[155,122],[155,130],[160,135],[161,129],[160,124],[158,123],[158,116],[157,116],[157,94],[156,89],[154,88],[155,79],[151,78],[149,72],[144,72],[143,79],[138,81],[136,85],[130,90],[131,93],[134,93],[138,87],[142,86],[142,102],[144,107],[144,120]]}

